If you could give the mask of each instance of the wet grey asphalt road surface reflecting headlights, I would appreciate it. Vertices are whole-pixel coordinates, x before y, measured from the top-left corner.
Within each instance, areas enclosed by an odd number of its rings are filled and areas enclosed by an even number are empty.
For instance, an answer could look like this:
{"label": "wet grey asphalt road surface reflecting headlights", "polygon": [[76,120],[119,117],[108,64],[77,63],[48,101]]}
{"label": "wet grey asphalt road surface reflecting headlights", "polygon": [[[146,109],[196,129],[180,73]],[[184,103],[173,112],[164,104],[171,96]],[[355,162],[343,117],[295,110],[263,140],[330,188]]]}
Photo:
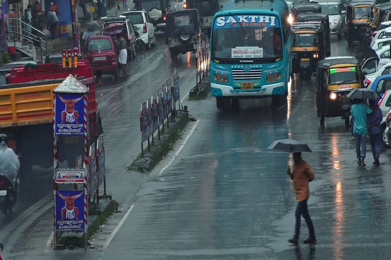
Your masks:
{"label": "wet grey asphalt road surface reflecting headlights", "polygon": [[[140,151],[139,107],[178,68],[181,93],[195,82],[195,55],[175,65],[159,37],[156,48],[128,64],[128,80],[104,77],[99,109],[104,128],[108,193],[121,204],[92,239],[96,249],[45,250],[52,231],[52,171],[34,168],[14,218],[0,216],[6,259],[384,259],[390,242],[389,156],[356,164],[354,139],[341,118],[319,127],[314,78],[295,77],[285,106],[241,102],[218,111],[214,99],[185,101],[190,122],[173,151],[150,174],[126,171]],[[332,37],[332,54],[353,52]],[[193,128],[194,127],[194,128]],[[194,131],[193,131],[194,129]],[[191,135],[190,135],[191,134]],[[189,136],[189,137],[188,137]],[[276,139],[304,141],[315,172],[309,210],[318,243],[290,246],[295,198],[286,153],[266,151]],[[185,143],[185,141],[187,142]],[[185,144],[185,145],[183,145]],[[174,157],[176,151],[182,149]],[[174,158],[173,158],[174,157]],[[173,158],[173,160],[172,160]],[[160,175],[160,171],[169,165]],[[118,233],[106,244],[125,213]],[[13,222],[11,222],[13,221]],[[306,238],[302,221],[300,239]],[[50,242],[50,241],[49,241]]]}

